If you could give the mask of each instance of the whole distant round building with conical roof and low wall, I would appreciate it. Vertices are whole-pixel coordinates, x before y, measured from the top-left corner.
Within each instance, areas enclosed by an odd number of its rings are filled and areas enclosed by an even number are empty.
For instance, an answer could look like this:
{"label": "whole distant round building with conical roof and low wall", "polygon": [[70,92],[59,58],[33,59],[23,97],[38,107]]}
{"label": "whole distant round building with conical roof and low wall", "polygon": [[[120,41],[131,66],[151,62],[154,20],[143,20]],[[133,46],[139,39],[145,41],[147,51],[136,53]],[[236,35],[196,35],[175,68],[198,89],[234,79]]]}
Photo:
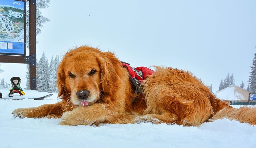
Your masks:
{"label": "whole distant round building with conical roof and low wall", "polygon": [[[220,100],[228,102],[230,105],[248,105],[249,93],[250,92],[237,85],[230,85],[214,93],[214,95]],[[256,102],[250,102],[250,105],[255,104]]]}

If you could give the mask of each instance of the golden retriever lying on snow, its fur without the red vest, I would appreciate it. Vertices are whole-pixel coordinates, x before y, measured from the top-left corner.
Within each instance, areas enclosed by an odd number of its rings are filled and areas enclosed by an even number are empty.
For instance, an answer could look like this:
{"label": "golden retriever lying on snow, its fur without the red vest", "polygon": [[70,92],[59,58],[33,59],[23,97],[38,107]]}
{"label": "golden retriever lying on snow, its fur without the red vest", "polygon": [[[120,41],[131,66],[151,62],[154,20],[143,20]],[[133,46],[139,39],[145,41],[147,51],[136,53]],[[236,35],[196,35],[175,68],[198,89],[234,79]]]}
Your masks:
{"label": "golden retriever lying on snow, its fur without the red vest", "polygon": [[256,124],[256,108],[229,106],[188,71],[156,66],[141,83],[142,92],[135,94],[129,73],[116,56],[89,46],[66,53],[57,69],[57,86],[60,102],[19,108],[12,114],[61,118],[61,125],[150,122],[198,126],[223,118]]}

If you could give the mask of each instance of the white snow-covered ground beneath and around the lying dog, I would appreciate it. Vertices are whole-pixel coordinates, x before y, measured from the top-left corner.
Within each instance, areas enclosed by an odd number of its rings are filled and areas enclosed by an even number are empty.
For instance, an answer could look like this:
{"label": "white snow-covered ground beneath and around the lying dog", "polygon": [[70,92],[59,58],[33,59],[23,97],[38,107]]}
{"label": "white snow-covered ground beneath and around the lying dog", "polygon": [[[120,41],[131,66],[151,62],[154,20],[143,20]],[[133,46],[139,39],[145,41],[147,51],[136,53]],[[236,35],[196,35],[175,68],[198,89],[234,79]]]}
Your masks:
{"label": "white snow-covered ground beneath and around the lying dog", "polygon": [[[3,97],[8,89],[0,89]],[[24,90],[26,96],[44,96]],[[60,119],[14,118],[16,108],[55,103],[57,94],[46,100],[0,99],[1,148],[109,148],[109,147],[167,147],[167,148],[255,148],[256,126],[235,120],[216,120],[199,127],[181,125],[101,124],[95,126],[62,126]],[[234,106],[236,108],[240,106]]]}

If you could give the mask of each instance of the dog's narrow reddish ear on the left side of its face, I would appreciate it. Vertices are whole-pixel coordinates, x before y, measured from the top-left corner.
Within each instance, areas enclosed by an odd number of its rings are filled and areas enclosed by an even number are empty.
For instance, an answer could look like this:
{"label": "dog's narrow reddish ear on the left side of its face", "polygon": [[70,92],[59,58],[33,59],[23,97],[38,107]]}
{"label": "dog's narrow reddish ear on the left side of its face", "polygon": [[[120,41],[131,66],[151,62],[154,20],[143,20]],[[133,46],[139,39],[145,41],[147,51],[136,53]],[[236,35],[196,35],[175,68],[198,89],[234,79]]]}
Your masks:
{"label": "dog's narrow reddish ear on the left side of its face", "polygon": [[58,69],[57,69],[57,87],[59,90],[58,97],[64,94],[65,92],[65,74],[64,74],[64,67],[63,62],[60,62]]}

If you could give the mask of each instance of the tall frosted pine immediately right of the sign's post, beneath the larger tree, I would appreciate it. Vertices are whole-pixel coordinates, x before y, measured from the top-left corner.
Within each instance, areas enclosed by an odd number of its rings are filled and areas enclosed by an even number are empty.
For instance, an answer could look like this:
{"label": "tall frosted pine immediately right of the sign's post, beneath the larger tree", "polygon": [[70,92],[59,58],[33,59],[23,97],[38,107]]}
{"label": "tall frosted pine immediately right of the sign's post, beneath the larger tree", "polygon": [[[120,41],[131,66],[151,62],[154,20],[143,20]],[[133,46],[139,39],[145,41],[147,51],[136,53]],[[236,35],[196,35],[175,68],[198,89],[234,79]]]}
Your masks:
{"label": "tall frosted pine immediately right of the sign's post, beneath the larger tree", "polygon": [[48,75],[49,75],[49,66],[48,60],[45,53],[43,52],[38,65],[36,66],[36,75],[37,75],[37,90],[41,92],[48,92]]}

